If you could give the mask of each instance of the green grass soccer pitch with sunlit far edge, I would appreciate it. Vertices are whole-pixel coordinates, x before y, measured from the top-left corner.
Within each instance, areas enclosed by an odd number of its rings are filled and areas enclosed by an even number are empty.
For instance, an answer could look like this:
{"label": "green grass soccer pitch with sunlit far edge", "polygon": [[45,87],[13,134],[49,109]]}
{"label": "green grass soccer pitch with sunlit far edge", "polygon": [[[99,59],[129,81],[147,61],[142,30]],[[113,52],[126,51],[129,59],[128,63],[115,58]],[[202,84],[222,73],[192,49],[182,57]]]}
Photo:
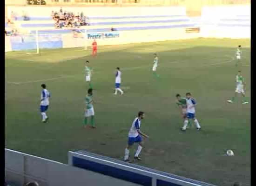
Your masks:
{"label": "green grass soccer pitch with sunlit far edge", "polygon": [[[235,66],[236,47],[242,63]],[[86,149],[122,159],[128,130],[138,111],[145,112],[145,140],[139,162],[160,171],[230,186],[250,186],[250,104],[241,97],[228,104],[242,70],[250,98],[250,40],[193,39],[120,46],[42,50],[40,55],[6,53],[7,148],[67,163],[69,150]],[[158,53],[159,79],[152,75]],[[95,130],[83,128],[85,60],[93,67]],[[124,95],[114,95],[115,68],[122,71]],[[40,85],[51,93],[49,122],[39,112]],[[175,94],[197,100],[195,126],[180,131],[182,118]],[[137,146],[136,146],[137,147]],[[134,146],[131,151],[135,152]],[[223,154],[228,149],[234,157]]]}

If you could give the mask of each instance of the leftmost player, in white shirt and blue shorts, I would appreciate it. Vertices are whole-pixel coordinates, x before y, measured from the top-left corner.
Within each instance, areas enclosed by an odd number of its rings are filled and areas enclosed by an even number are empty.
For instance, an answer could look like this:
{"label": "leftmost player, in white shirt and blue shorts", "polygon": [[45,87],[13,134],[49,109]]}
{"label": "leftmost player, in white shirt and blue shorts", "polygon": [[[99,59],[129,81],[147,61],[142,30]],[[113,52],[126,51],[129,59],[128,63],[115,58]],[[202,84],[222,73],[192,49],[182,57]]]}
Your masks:
{"label": "leftmost player, in white shirt and blue shorts", "polygon": [[42,122],[46,123],[49,118],[46,115],[46,111],[49,107],[50,93],[46,89],[46,85],[42,84],[41,100],[40,100],[40,112],[42,115]]}

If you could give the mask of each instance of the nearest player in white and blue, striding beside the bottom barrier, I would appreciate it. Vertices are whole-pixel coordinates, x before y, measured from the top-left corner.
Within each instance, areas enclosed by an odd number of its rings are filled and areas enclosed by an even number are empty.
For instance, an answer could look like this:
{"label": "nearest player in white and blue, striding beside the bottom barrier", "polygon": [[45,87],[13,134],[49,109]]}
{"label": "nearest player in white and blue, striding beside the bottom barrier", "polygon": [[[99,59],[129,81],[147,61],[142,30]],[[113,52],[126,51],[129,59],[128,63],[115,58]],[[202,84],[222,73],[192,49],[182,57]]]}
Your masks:
{"label": "nearest player in white and blue, striding beside the bottom barrier", "polygon": [[134,159],[141,160],[139,155],[143,147],[142,137],[149,138],[148,135],[141,132],[141,120],[144,119],[144,116],[145,116],[144,112],[139,112],[138,117],[135,118],[135,120],[133,121],[132,127],[130,128],[130,131],[128,133],[128,144],[126,146],[125,155],[124,155],[125,161],[129,161],[129,153],[130,153],[129,149],[131,148],[131,146],[134,145],[134,143],[139,144],[138,149],[135,153]]}

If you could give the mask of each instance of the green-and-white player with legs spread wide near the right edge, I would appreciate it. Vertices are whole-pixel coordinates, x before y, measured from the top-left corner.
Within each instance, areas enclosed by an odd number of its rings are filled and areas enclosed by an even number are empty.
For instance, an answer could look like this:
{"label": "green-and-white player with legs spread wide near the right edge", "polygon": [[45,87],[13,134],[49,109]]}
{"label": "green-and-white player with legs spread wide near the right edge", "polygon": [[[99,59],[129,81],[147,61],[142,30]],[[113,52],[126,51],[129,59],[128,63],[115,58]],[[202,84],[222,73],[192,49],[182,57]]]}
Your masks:
{"label": "green-and-white player with legs spread wide near the right edge", "polygon": [[237,96],[237,93],[242,93],[243,104],[249,104],[249,102],[246,100],[246,97],[245,97],[244,88],[245,88],[245,81],[244,81],[244,78],[242,76],[241,70],[239,70],[238,74],[236,75],[236,91],[235,91],[235,96],[233,96],[231,100],[228,100],[228,102],[229,103],[234,103],[235,98]]}

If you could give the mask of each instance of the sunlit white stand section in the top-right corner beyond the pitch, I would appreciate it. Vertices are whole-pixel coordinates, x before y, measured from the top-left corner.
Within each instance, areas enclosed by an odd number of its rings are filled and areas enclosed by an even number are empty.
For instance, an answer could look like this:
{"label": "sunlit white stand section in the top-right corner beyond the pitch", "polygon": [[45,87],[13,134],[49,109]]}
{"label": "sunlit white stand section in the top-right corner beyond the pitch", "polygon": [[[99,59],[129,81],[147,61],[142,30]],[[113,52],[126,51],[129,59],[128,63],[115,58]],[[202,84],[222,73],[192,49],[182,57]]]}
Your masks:
{"label": "sunlit white stand section in the top-right corner beyond the pitch", "polygon": [[201,37],[250,38],[250,16],[249,5],[203,7]]}

